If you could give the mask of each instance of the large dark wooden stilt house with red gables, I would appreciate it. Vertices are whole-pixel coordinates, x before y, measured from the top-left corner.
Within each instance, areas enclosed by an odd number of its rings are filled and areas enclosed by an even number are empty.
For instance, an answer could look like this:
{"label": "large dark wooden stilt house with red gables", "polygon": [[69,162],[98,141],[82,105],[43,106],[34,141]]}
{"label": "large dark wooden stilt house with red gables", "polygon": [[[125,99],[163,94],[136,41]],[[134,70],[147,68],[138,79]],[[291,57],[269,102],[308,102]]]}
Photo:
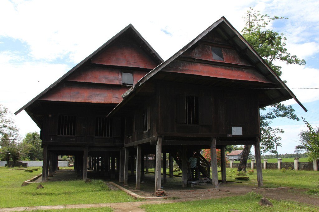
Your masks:
{"label": "large dark wooden stilt house with red gables", "polygon": [[[292,98],[304,108],[221,17],[164,62],[129,25],[16,114],[25,109],[41,128],[44,181],[56,168],[56,155],[67,152],[76,155],[83,179],[88,168],[114,178],[116,161],[119,181],[127,184],[129,158],[134,173],[136,157],[140,188],[144,155],[155,154],[156,191],[161,158],[169,154],[169,176],[174,159],[186,187],[187,160],[196,152],[199,171],[217,188],[216,148],[225,182],[226,145],[253,144],[262,186],[259,108]],[[211,163],[199,153],[202,148],[211,149]]]}

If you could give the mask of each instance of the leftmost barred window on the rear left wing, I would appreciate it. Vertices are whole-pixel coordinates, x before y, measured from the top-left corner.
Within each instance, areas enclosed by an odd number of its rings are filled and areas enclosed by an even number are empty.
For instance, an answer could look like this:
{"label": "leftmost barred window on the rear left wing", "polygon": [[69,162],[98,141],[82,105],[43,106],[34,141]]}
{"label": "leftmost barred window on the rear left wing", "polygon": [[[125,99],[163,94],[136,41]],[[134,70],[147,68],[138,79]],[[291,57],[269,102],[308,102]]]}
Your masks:
{"label": "leftmost barred window on the rear left wing", "polygon": [[75,116],[59,115],[58,135],[75,135]]}

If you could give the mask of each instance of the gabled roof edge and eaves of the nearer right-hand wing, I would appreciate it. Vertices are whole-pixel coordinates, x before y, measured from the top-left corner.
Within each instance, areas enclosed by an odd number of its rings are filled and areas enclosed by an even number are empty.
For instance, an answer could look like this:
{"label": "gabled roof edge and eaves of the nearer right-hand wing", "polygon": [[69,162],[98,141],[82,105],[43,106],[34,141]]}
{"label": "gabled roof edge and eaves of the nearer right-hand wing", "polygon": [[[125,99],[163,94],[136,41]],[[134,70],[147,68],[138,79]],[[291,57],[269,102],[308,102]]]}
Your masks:
{"label": "gabled roof edge and eaves of the nearer right-hand wing", "polygon": [[119,108],[125,105],[126,102],[130,99],[129,97],[133,95],[134,92],[138,92],[138,90],[140,90],[140,88],[145,84],[146,81],[151,79],[154,75],[156,75],[156,73],[165,68],[192,46],[196,45],[205,35],[215,29],[224,37],[228,38],[229,41],[233,43],[239,51],[241,51],[241,54],[245,54],[246,58],[248,58],[249,61],[255,65],[256,69],[259,72],[261,72],[264,76],[266,76],[268,79],[276,84],[276,88],[278,89],[270,89],[269,91],[265,92],[268,97],[273,100],[271,104],[293,98],[307,112],[307,109],[300,103],[300,101],[287,87],[287,85],[278,77],[278,75],[263,60],[263,58],[256,52],[256,50],[245,40],[245,38],[243,38],[242,35],[223,16],[210,27],[208,27],[205,31],[199,34],[195,39],[189,42],[189,44],[184,46],[181,50],[177,51],[172,57],[168,58],[166,61],[154,68],[151,72],[147,73],[143,78],[138,80],[138,82],[133,87],[131,87],[122,95],[124,100],[120,104],[118,104],[109,115],[115,113]]}

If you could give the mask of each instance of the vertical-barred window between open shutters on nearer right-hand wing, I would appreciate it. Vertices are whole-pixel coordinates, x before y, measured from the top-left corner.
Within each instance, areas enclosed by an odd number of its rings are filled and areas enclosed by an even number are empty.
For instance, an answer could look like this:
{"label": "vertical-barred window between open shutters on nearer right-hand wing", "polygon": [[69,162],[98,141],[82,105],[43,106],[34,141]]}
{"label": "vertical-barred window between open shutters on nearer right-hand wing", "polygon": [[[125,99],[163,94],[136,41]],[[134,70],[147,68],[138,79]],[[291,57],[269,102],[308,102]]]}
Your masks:
{"label": "vertical-barred window between open shutters on nearer right-hand wing", "polygon": [[185,124],[198,124],[198,97],[186,96],[185,98],[186,120]]}

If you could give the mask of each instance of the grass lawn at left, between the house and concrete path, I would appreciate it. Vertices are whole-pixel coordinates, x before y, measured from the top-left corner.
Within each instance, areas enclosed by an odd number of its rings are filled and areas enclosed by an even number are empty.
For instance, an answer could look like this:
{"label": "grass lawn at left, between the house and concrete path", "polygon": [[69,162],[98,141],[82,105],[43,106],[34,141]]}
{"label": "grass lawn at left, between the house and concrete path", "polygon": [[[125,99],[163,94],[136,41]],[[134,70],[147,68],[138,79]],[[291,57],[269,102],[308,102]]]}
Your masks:
{"label": "grass lawn at left, between the house and concrete path", "polygon": [[11,168],[0,168],[0,208],[135,201],[123,191],[112,191],[97,180],[92,183],[82,180],[45,182],[43,189],[36,189],[40,183],[21,187],[23,181],[40,174],[42,169],[33,173],[8,169]]}

